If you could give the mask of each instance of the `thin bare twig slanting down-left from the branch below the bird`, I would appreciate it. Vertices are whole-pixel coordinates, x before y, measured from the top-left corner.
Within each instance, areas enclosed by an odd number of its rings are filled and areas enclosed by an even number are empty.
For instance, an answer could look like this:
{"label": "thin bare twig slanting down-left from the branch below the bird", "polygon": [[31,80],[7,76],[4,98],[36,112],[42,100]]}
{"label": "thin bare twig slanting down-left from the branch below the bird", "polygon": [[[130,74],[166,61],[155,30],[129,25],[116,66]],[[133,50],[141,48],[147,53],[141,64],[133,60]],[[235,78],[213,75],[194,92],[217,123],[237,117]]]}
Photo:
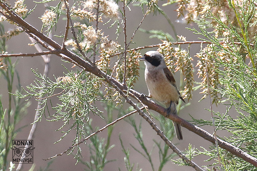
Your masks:
{"label": "thin bare twig slanting down-left from the branch below the bird", "polygon": [[[140,110],[143,109],[143,108],[144,108],[144,107],[141,107]],[[137,111],[134,110],[134,111],[132,111],[132,112],[126,114],[126,115],[123,115],[122,117],[120,117],[120,118],[114,120],[113,122],[111,122],[111,123],[105,125],[105,126],[102,127],[101,129],[98,129],[96,132],[94,132],[94,133],[90,134],[89,136],[87,136],[86,138],[82,139],[80,142],[78,142],[78,143],[72,145],[71,147],[69,147],[69,148],[68,148],[67,150],[65,150],[64,152],[62,152],[62,153],[60,153],[60,154],[56,154],[56,155],[54,155],[54,156],[52,156],[52,157],[49,157],[49,158],[43,159],[43,160],[49,160],[49,159],[52,159],[52,158],[54,158],[54,157],[61,156],[61,155],[65,154],[65,153],[67,153],[70,149],[72,149],[72,148],[74,148],[75,146],[77,146],[77,145],[79,145],[79,144],[85,142],[85,141],[86,141],[88,138],[90,138],[91,136],[96,135],[96,134],[99,133],[99,132],[102,132],[102,131],[103,131],[104,129],[106,129],[107,127],[109,127],[109,126],[111,126],[111,125],[114,125],[114,124],[117,123],[118,121],[120,121],[120,120],[124,119],[125,117],[128,117],[128,116],[130,116],[130,115],[132,115],[132,114],[134,114],[134,113],[137,113]]]}

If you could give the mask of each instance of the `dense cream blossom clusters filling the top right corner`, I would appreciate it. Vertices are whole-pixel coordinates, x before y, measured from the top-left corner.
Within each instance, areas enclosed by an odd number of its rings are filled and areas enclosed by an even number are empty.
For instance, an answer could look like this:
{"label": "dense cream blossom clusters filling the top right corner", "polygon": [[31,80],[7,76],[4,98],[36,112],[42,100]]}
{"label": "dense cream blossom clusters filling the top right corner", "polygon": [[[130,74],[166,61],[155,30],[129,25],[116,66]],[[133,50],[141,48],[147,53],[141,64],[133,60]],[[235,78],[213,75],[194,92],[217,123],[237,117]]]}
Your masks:
{"label": "dense cream blossom clusters filling the top right corner", "polygon": [[[236,28],[239,27],[239,23],[237,21],[234,9],[230,7],[229,3],[230,1],[227,0],[190,0],[190,1],[178,1],[178,17],[183,17],[188,23],[193,22],[195,19],[205,19],[206,16],[211,13],[211,15],[214,15],[218,19],[221,19],[224,25],[227,26],[235,26]],[[245,1],[245,0],[237,0],[235,1],[235,9],[237,11],[237,14],[240,18],[243,18],[244,15],[244,9],[247,9],[250,7],[251,1]],[[210,19],[210,24],[215,27],[219,28],[222,27],[217,21],[214,19]],[[241,19],[240,19],[241,20]],[[257,14],[256,14],[256,7],[255,11],[253,11],[253,16],[250,19],[247,28],[248,36],[250,38],[250,42],[254,42],[254,36],[257,30],[256,21],[257,20]],[[243,21],[241,21],[241,24],[243,24]],[[215,37],[221,37],[223,36],[224,30],[222,29],[214,29]],[[234,37],[233,39],[236,39]]]}

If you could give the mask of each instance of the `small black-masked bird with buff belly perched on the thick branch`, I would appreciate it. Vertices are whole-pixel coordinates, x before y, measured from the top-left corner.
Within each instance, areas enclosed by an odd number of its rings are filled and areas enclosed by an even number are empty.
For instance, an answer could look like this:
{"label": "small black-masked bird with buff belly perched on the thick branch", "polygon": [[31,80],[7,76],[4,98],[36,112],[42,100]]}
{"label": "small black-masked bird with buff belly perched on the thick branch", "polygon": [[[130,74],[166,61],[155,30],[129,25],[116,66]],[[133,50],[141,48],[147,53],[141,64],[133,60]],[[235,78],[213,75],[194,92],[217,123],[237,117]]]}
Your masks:
{"label": "small black-masked bird with buff belly perched on the thick branch", "polygon": [[[149,97],[154,98],[161,104],[166,106],[167,113],[178,115],[175,103],[178,104],[181,97],[176,86],[176,81],[166,66],[164,57],[157,51],[148,51],[138,60],[144,61],[145,64],[145,82],[148,87]],[[179,124],[173,122],[176,136],[182,140],[182,132]]]}

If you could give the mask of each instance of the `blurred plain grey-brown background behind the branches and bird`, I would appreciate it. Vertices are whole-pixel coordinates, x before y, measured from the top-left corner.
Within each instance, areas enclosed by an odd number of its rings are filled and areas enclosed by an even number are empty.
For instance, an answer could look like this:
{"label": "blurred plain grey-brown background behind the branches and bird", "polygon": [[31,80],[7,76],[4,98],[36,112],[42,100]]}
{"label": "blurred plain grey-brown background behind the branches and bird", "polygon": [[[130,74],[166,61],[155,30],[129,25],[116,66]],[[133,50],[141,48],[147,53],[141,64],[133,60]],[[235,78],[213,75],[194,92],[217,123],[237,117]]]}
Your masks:
{"label": "blurred plain grey-brown background behind the branches and bird", "polygon": [[[27,5],[27,9],[33,8],[35,6],[35,3],[32,1],[25,1],[24,2]],[[58,2],[51,2],[48,3],[49,6],[55,6]],[[71,3],[71,2],[70,2]],[[186,29],[185,27],[197,27],[197,25],[187,25],[183,22],[178,22],[177,20],[177,6],[176,4],[168,5],[168,6],[162,6],[163,1],[159,2],[159,6],[163,9],[164,12],[168,15],[168,17],[173,22],[175,29],[177,31],[178,35],[183,35],[187,38],[187,41],[196,41],[198,40],[198,35],[193,34],[191,31]],[[11,2],[13,5],[14,2]],[[119,4],[121,7],[122,4]],[[127,35],[128,39],[132,36],[134,30],[139,25],[144,13],[142,13],[141,7],[138,6],[132,6],[130,5],[131,11],[126,9],[126,17],[127,17]],[[29,17],[26,18],[26,21],[33,25],[36,29],[40,30],[42,26],[41,17],[45,11],[46,7],[44,4],[37,4],[37,7],[34,12],[32,12],[32,15],[29,15]],[[64,18],[65,16],[61,16],[61,18]],[[179,20],[182,21],[182,20]],[[73,21],[74,22],[74,21]],[[53,34],[61,35],[61,33],[64,33],[65,31],[65,18],[58,22],[57,24],[57,30]],[[10,28],[10,24],[5,24],[5,29],[8,30]],[[105,31],[105,35],[109,35],[109,39],[115,40],[116,35],[115,33],[116,27],[112,27],[109,29],[106,29],[109,25],[104,25],[100,23],[99,27],[103,28]],[[9,28],[8,28],[9,27]],[[14,25],[12,25],[12,28],[15,28]],[[162,30],[165,33],[171,34],[173,37],[175,37],[175,34],[172,31],[172,28],[168,24],[167,20],[162,15],[152,15],[149,14],[145,17],[143,24],[141,25],[142,29],[145,30]],[[145,46],[145,45],[152,45],[152,44],[159,44],[162,43],[157,38],[149,38],[149,34],[143,33],[141,31],[137,31],[136,35],[134,37],[134,44],[131,44],[129,48],[139,47],[139,46]],[[68,38],[71,38],[71,33],[69,32]],[[57,41],[59,44],[62,42],[62,38],[53,37],[55,41]],[[124,35],[121,32],[120,37],[118,37],[118,42],[124,46],[123,44]],[[33,46],[28,46],[27,44],[31,43],[29,37],[22,33],[18,36],[15,36],[11,39],[8,39],[7,41],[7,51],[8,53],[34,53],[37,52],[36,49]],[[187,48],[187,45],[181,46],[182,48]],[[43,49],[43,48],[42,48]],[[148,48],[148,49],[142,49],[141,53],[144,54],[146,51],[149,50],[156,50],[157,48]],[[45,49],[43,49],[45,50]],[[194,59],[193,63],[194,66],[197,63],[197,59],[194,57],[194,55],[200,50],[200,45],[191,45],[190,47],[190,55]],[[35,76],[31,72],[31,68],[36,69],[38,68],[40,73],[43,73],[44,70],[44,62],[42,57],[17,57],[12,58],[12,61],[19,60],[19,63],[16,67],[17,72],[19,73],[21,85],[25,87],[26,85],[29,85],[30,83],[33,83]],[[50,59],[50,70],[49,70],[49,77],[53,79],[53,74],[58,76],[63,76],[63,72],[65,69],[61,64],[64,64],[61,62],[60,58],[55,55],[51,55]],[[64,64],[68,69],[71,70],[72,64]],[[195,68],[195,81],[200,82],[200,80],[196,76],[197,68]],[[6,81],[4,77],[0,78],[0,94],[2,95],[1,100],[3,102],[3,107],[7,108],[7,86]],[[177,84],[179,84],[180,80],[180,73],[175,73],[175,80],[177,81]],[[15,82],[17,83],[17,79],[15,79]],[[17,85],[14,83],[14,85]],[[140,62],[140,77],[137,83],[134,86],[134,89],[140,93],[148,94],[148,90],[144,81],[144,64],[143,62]],[[191,120],[191,116],[193,116],[196,119],[202,118],[206,120],[210,120],[211,114],[208,112],[205,108],[209,108],[209,99],[206,98],[202,100],[201,102],[198,102],[198,100],[201,99],[202,95],[199,94],[201,90],[197,90],[193,93],[193,97],[189,102],[189,106],[182,109],[179,113],[179,116],[186,119]],[[24,99],[22,99],[24,100]],[[29,135],[29,131],[31,129],[31,123],[33,122],[34,115],[35,115],[35,108],[37,107],[37,101],[33,98],[30,100],[31,105],[27,108],[27,114],[23,116],[21,122],[17,125],[16,128],[24,127],[22,130],[17,134],[15,139],[27,139]],[[57,101],[53,101],[52,103],[57,103]],[[124,105],[124,107],[128,107],[128,105]],[[214,111],[223,112],[225,111],[225,108],[217,108],[215,105]],[[99,104],[99,108],[103,109],[103,106]],[[104,115],[104,114],[103,114]],[[113,114],[114,118],[117,116],[117,114]],[[138,121],[141,120],[141,116],[138,114],[135,118],[138,119]],[[91,115],[90,118],[93,118],[92,125],[98,126],[99,128],[103,127],[105,125],[105,121],[101,119],[98,116]],[[33,137],[34,141],[34,164],[35,169],[39,170],[40,168],[44,168],[47,166],[47,163],[49,160],[44,161],[42,159],[48,158],[51,156],[54,156],[55,154],[59,154],[69,148],[72,145],[72,140],[74,139],[75,135],[73,136],[72,133],[68,134],[63,140],[61,140],[59,143],[54,144],[59,138],[63,135],[60,131],[54,131],[57,130],[62,123],[58,122],[48,122],[44,118],[41,122],[38,123],[38,126],[36,128],[36,132]],[[203,129],[207,130],[209,133],[213,133],[213,127],[203,127]],[[142,120],[142,133],[143,138],[146,143],[146,147],[151,150],[154,142],[153,139],[158,141],[161,141],[159,136],[156,135],[155,131],[150,127],[150,125],[145,122],[145,120]],[[204,147],[208,148],[210,145],[212,145],[207,140],[204,140],[203,138],[199,137],[198,135],[193,134],[189,130],[182,127],[182,133],[183,133],[183,140],[179,141],[178,139],[174,138],[172,140],[172,143],[175,144],[178,149],[185,150],[188,148],[188,144],[190,143],[193,147],[199,148]],[[75,132],[74,132],[75,134]],[[126,170],[125,164],[124,164],[124,157],[125,154],[121,150],[121,145],[119,141],[119,134],[121,134],[121,138],[123,139],[123,145],[125,146],[125,149],[130,148],[130,162],[131,163],[138,163],[139,168],[142,168],[142,170],[152,170],[151,165],[148,163],[148,161],[142,157],[138,152],[136,152],[130,144],[135,146],[136,148],[140,149],[140,145],[137,142],[136,138],[134,137],[134,129],[125,121],[118,122],[113,130],[113,136],[111,138],[111,144],[115,144],[115,147],[112,148],[112,150],[108,153],[107,159],[112,160],[116,159],[116,161],[108,163],[104,170],[118,170],[119,168],[121,170]],[[223,135],[223,132],[217,132],[218,135]],[[100,137],[106,138],[107,131],[104,130],[102,133],[98,133]],[[86,145],[81,145],[82,148],[82,160],[89,160],[89,149]],[[169,150],[169,153],[172,153],[172,150]],[[76,163],[76,159],[73,158],[73,155],[62,155],[54,158],[53,163],[50,166],[50,169],[52,170],[84,170],[85,166],[81,163]],[[9,155],[9,159],[11,161],[11,153]],[[177,157],[173,158],[176,159]],[[155,147],[152,154],[152,159],[154,160],[153,163],[155,164],[155,169],[159,166],[159,157],[158,157],[158,148]],[[204,162],[204,160],[207,159],[204,156],[196,156],[193,161],[196,162],[198,165],[207,165],[208,163]],[[22,170],[29,170],[32,164],[23,164]],[[17,166],[17,165],[16,165]],[[136,168],[136,166],[135,166]],[[163,170],[194,170],[192,167],[187,166],[177,166],[173,164],[173,162],[168,162],[166,166],[164,166]]]}

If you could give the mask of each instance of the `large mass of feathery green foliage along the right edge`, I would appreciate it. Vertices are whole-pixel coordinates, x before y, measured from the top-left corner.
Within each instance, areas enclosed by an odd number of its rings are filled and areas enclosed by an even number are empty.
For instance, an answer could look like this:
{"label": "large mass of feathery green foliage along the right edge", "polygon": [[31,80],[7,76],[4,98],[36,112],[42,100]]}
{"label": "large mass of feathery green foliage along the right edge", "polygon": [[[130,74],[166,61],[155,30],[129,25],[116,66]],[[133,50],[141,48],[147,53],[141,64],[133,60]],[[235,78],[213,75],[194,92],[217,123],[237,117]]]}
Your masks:
{"label": "large mass of feathery green foliage along the right edge", "polygon": [[[232,2],[232,3],[231,3]],[[256,94],[256,36],[254,42],[248,37],[248,29],[251,25],[253,14],[256,13],[255,7],[250,3],[248,8],[242,8],[235,5],[234,1],[229,1],[229,5],[234,9],[239,28],[233,25],[226,25],[222,19],[215,17],[211,11],[206,18],[218,23],[213,27],[216,31],[226,32],[226,36],[218,38],[214,32],[208,31],[206,27],[200,26],[200,31],[195,28],[189,28],[196,34],[205,38],[202,40],[212,42],[213,51],[210,57],[213,59],[213,65],[210,65],[214,72],[218,74],[218,87],[210,87],[213,91],[221,94],[225,100],[223,105],[228,105],[226,113],[214,112],[214,124],[216,130],[227,130],[231,135],[229,137],[220,137],[226,142],[243,149],[246,153],[255,156],[256,148],[256,129],[257,129],[257,94]],[[246,3],[246,1],[244,1]],[[237,6],[237,8],[235,8]],[[239,15],[238,8],[243,15]],[[227,16],[227,20],[230,21]],[[204,24],[203,24],[204,25]],[[219,41],[223,40],[225,43]],[[230,43],[231,42],[231,43]],[[239,45],[234,42],[240,42]],[[253,44],[251,44],[253,43]],[[205,85],[207,86],[207,85]],[[229,103],[227,102],[229,100]],[[236,118],[232,115],[233,108],[237,112]],[[210,110],[209,110],[210,111]],[[212,125],[211,120],[192,118],[192,123],[204,126]],[[219,135],[219,133],[218,133]],[[191,148],[191,147],[190,147]],[[210,149],[195,149],[196,155],[208,156],[208,161],[213,161],[208,166],[215,166],[219,170],[257,170],[253,165],[245,162],[243,159],[227,153],[226,150],[219,148],[220,162],[217,159],[217,149],[211,146]],[[192,150],[194,151],[194,149]],[[191,150],[187,152],[190,155]],[[183,163],[177,162],[179,165]]]}

